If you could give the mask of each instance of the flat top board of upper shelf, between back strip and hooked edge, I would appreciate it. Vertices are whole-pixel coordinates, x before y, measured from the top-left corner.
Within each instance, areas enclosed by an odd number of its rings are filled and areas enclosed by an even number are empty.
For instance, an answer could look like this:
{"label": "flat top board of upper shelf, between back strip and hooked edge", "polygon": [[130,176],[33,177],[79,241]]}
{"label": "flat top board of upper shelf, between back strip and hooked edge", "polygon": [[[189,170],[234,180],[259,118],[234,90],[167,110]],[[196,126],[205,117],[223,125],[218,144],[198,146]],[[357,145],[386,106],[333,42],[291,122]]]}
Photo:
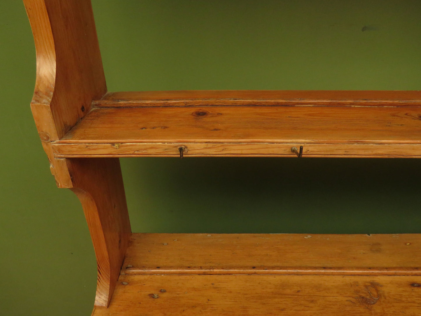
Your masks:
{"label": "flat top board of upper shelf, between back strip and hooked edge", "polygon": [[420,143],[421,107],[97,108],[58,143]]}

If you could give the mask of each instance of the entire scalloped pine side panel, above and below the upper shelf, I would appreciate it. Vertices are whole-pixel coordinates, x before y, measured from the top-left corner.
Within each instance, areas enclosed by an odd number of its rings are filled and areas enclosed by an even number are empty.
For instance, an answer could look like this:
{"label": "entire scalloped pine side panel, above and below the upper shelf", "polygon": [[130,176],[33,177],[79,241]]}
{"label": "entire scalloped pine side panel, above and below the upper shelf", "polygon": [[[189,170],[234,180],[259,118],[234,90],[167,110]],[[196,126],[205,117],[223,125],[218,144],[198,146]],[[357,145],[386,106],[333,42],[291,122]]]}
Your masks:
{"label": "entire scalloped pine side panel, above and below the upper shelf", "polygon": [[130,236],[118,159],[65,160],[51,143],[106,92],[90,0],[24,0],[37,52],[31,110],[58,187],[80,198],[98,263],[96,305],[107,305]]}

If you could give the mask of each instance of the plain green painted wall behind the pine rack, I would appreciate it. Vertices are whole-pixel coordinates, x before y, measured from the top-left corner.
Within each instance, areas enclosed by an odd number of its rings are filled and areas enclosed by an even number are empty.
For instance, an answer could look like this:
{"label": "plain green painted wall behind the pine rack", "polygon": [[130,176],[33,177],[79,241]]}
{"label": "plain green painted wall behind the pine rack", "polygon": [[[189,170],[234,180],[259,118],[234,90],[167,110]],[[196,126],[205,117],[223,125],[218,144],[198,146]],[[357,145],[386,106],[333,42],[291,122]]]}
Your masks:
{"label": "plain green painted wall behind the pine rack", "polygon": [[[262,3],[263,2],[263,3]],[[110,91],[421,89],[421,2],[93,0]],[[0,2],[0,315],[89,315],[96,262],[33,123],[35,49]],[[416,159],[122,159],[133,231],[421,233]]]}

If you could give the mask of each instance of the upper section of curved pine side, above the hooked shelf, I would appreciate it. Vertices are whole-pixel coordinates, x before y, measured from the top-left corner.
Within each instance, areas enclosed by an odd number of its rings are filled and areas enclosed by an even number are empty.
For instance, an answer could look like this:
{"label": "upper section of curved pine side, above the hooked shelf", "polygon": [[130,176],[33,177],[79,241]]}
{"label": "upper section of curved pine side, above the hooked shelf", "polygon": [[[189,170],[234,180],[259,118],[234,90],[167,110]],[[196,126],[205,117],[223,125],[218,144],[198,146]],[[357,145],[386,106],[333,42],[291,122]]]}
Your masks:
{"label": "upper section of curved pine side, above the hooked shelf", "polygon": [[57,140],[91,110],[93,99],[107,92],[91,1],[24,4],[37,51],[32,112],[38,132]]}

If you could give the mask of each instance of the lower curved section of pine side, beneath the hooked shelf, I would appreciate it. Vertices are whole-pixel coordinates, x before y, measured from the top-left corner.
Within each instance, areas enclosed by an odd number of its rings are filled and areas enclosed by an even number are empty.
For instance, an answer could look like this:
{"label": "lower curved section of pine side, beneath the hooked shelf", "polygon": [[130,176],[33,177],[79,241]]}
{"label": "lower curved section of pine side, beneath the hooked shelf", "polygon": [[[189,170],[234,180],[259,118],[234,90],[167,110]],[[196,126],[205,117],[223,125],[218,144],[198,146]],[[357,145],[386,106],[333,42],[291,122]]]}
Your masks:
{"label": "lower curved section of pine side, beneath the hooked shelf", "polygon": [[120,274],[130,222],[118,158],[67,159],[98,265],[95,305],[107,306]]}

